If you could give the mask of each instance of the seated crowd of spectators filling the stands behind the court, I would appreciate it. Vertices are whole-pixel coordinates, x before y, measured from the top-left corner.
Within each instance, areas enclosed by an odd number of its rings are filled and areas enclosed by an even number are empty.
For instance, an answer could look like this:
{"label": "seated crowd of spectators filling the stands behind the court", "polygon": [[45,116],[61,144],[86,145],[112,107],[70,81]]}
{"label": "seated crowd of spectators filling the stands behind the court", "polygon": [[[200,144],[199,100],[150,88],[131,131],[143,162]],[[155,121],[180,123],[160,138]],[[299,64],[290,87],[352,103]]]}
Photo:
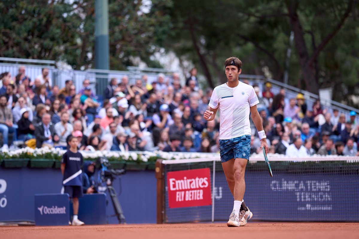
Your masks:
{"label": "seated crowd of spectators filling the stands behind the court", "polygon": [[[59,89],[47,68],[33,80],[23,66],[15,77],[4,72],[0,75],[3,148],[9,147],[10,138],[11,142],[36,140],[38,148],[66,148],[73,135],[79,139],[79,149],[89,151],[219,152],[219,117],[203,118],[213,89],[200,90],[196,74],[192,69],[185,85],[177,73],[171,78],[159,74],[153,82],[143,75],[133,85],[127,76],[112,78],[98,101],[88,79],[81,89],[72,80]],[[320,101],[308,108],[302,94],[288,99],[281,89],[274,95],[269,82],[264,89],[253,88],[271,153],[359,156],[355,111],[346,119],[338,110],[327,112]],[[259,153],[253,122],[251,128],[251,153]]]}

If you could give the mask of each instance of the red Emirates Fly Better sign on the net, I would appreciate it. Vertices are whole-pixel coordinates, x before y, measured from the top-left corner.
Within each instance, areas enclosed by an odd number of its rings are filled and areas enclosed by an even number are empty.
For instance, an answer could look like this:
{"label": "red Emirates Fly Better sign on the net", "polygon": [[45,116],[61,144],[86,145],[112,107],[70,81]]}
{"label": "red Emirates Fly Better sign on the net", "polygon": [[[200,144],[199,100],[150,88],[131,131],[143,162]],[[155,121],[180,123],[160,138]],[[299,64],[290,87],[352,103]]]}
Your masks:
{"label": "red Emirates Fly Better sign on the net", "polygon": [[168,172],[167,190],[169,208],[211,205],[210,169]]}

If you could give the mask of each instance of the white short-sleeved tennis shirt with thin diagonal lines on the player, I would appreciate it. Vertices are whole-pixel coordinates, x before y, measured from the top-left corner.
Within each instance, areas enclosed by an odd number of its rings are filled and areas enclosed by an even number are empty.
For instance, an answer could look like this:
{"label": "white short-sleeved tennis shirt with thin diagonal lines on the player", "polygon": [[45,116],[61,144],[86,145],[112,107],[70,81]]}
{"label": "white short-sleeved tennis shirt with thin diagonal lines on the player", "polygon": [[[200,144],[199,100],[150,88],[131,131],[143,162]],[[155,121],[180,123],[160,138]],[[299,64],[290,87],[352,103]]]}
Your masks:
{"label": "white short-sleeved tennis shirt with thin diagonal lines on the player", "polygon": [[212,109],[219,107],[219,139],[251,135],[250,107],[258,103],[253,87],[243,82],[234,88],[226,83],[215,87],[208,105]]}

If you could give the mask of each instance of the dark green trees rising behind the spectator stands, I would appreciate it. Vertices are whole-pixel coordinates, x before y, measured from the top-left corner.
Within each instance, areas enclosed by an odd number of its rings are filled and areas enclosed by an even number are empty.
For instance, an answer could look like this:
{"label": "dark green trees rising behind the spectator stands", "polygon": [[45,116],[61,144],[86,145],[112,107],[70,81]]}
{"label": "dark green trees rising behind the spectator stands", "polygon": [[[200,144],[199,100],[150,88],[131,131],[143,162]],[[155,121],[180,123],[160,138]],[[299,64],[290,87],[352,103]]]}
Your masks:
{"label": "dark green trees rising behind the spectator stands", "polygon": [[[224,59],[237,56],[245,74],[283,81],[288,72],[301,89],[333,87],[335,100],[359,93],[356,0],[109,0],[108,6],[112,70],[139,61],[160,67],[151,56],[165,49],[193,62],[211,87],[225,81]],[[93,67],[94,0],[3,0],[0,10],[0,56]]]}

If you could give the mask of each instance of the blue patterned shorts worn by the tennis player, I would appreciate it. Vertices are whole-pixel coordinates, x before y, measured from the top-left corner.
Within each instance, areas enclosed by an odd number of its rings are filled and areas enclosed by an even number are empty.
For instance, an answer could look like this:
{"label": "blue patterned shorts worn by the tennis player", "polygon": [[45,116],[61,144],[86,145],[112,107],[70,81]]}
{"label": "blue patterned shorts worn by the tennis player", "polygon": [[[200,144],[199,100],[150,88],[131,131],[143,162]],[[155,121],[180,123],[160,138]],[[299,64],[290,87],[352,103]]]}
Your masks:
{"label": "blue patterned shorts worn by the tennis player", "polygon": [[242,135],[234,139],[220,139],[219,150],[222,163],[232,158],[245,158],[249,160],[251,135]]}

